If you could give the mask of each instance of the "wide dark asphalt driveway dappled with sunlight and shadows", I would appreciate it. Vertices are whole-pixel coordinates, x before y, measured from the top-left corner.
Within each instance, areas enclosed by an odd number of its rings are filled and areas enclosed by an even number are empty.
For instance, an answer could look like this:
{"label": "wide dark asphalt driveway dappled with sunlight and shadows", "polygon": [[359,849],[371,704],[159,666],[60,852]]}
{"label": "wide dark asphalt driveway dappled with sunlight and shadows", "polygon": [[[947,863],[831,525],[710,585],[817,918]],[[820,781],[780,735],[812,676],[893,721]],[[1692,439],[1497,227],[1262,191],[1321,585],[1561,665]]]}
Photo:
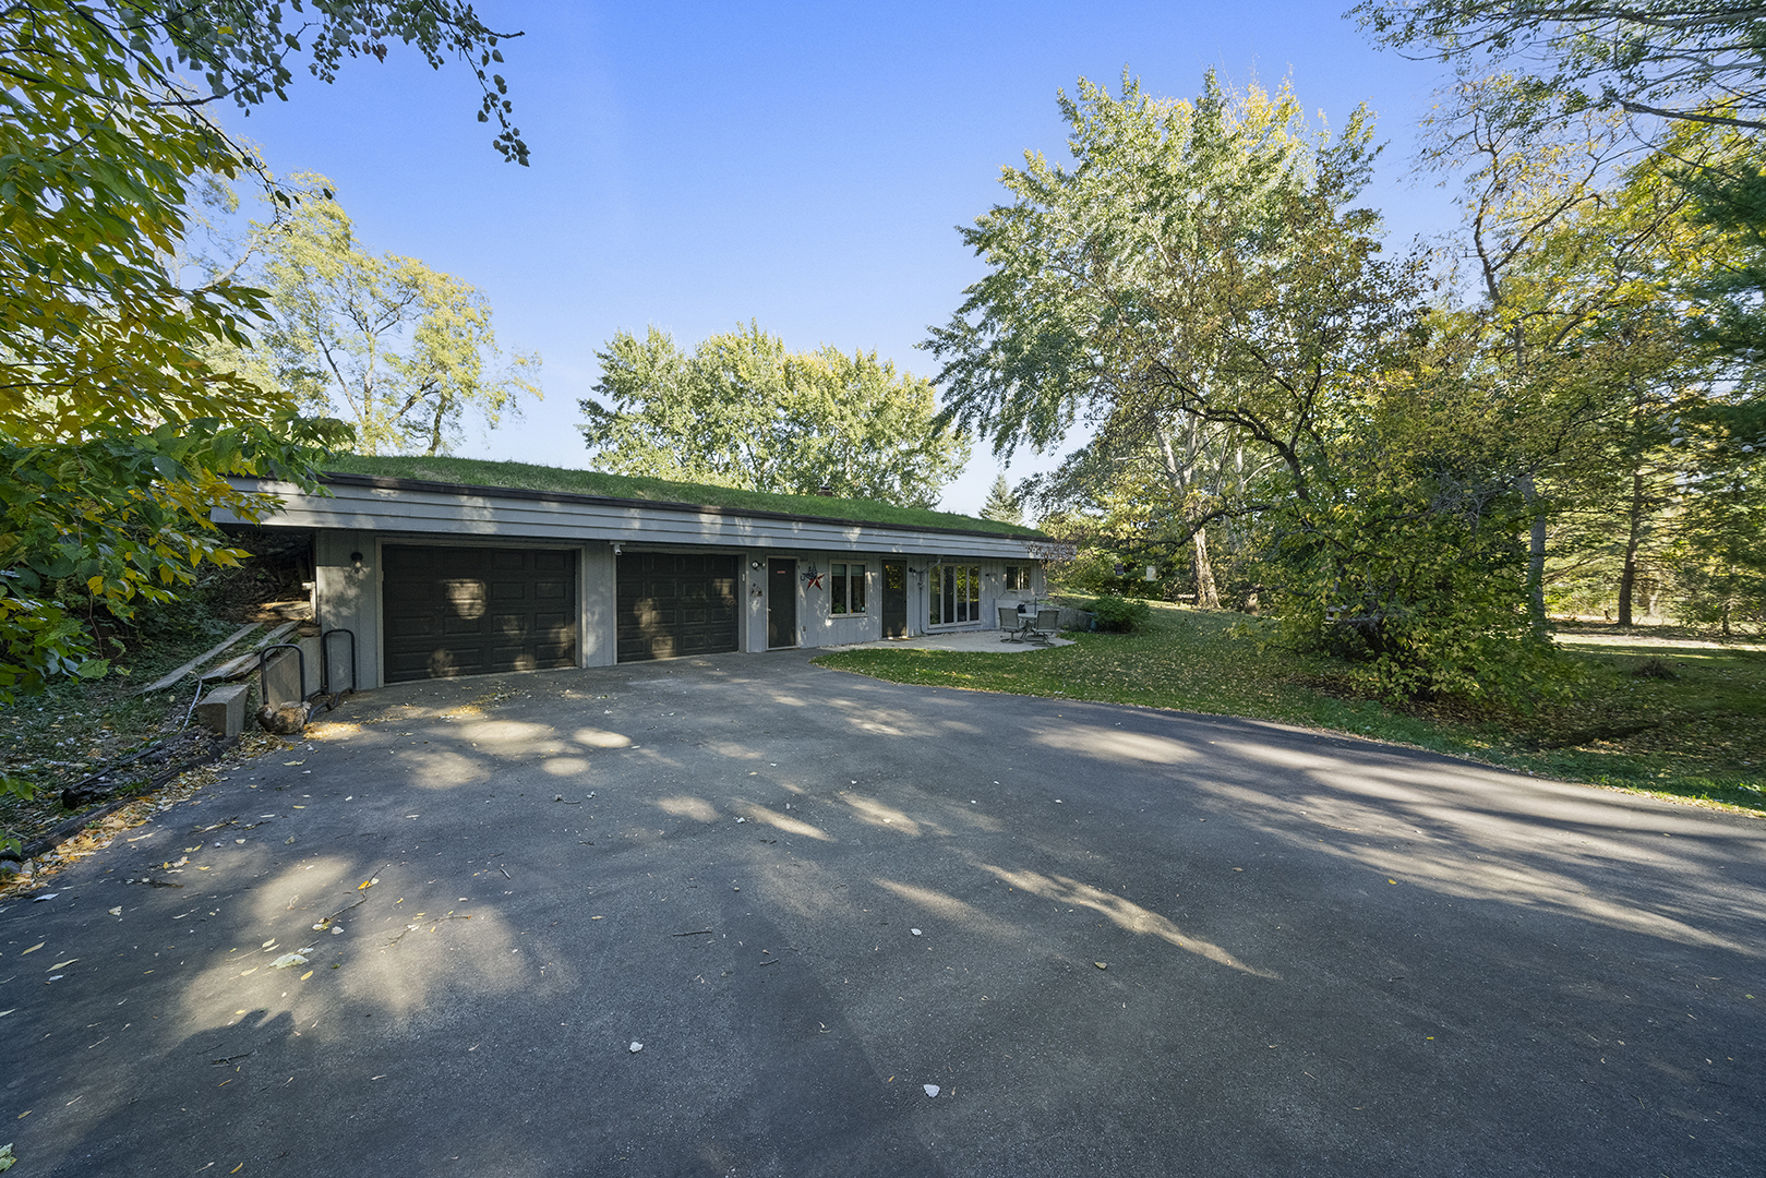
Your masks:
{"label": "wide dark asphalt driveway dappled with sunlight and shadows", "polygon": [[800,653],[330,719],[0,908],[18,1178],[1766,1157],[1755,819]]}

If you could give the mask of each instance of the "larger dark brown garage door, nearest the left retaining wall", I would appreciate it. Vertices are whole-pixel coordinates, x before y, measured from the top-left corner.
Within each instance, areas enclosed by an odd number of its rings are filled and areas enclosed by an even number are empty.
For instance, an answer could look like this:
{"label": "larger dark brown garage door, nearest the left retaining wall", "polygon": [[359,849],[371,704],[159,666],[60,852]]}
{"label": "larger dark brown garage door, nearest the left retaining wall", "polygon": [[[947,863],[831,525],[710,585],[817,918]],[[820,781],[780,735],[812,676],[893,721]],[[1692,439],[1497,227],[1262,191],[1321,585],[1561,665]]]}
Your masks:
{"label": "larger dark brown garage door, nearest the left retaining wall", "polygon": [[381,549],[387,682],[576,666],[576,553]]}

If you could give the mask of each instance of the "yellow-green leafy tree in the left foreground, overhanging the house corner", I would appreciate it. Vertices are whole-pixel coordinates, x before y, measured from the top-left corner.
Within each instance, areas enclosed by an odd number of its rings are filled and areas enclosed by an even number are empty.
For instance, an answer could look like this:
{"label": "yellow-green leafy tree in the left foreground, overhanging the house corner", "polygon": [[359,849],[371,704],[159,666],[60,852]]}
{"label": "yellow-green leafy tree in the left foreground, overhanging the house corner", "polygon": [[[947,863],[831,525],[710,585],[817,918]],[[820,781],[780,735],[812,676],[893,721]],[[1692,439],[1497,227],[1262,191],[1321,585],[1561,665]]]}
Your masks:
{"label": "yellow-green leafy tree in the left foreground, overhanging the house corner", "polygon": [[[251,171],[210,102],[283,95],[302,39],[330,79],[389,37],[475,71],[496,41],[445,0],[316,0],[300,25],[251,0],[0,7],[0,699],[102,673],[99,615],[127,618],[200,562],[233,560],[214,509],[270,507],[230,475],[298,482],[316,447],[344,438],[212,366],[245,344],[260,291],[180,284],[162,260],[189,228],[192,185]],[[205,95],[182,88],[191,72]],[[503,83],[484,85],[480,117],[503,120],[489,95]],[[525,157],[502,125],[505,157]]]}

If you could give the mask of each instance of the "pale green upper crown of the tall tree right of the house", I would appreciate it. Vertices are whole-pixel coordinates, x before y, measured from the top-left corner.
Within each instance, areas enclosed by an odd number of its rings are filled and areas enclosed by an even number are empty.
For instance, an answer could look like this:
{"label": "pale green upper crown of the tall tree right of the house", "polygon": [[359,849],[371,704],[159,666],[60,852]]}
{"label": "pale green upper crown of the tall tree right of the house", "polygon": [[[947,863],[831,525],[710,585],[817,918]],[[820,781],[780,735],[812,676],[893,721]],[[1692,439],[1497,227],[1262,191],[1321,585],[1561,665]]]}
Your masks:
{"label": "pale green upper crown of the tall tree right of the house", "polygon": [[1227,95],[1208,74],[1194,102],[1081,79],[1061,113],[1075,166],[1026,154],[1001,178],[1014,203],[961,230],[989,272],[924,344],[945,417],[1010,454],[1081,413],[1143,431],[1190,415],[1256,438],[1305,495],[1317,403],[1408,302],[1377,217],[1351,207],[1367,111],[1314,132],[1291,94]]}

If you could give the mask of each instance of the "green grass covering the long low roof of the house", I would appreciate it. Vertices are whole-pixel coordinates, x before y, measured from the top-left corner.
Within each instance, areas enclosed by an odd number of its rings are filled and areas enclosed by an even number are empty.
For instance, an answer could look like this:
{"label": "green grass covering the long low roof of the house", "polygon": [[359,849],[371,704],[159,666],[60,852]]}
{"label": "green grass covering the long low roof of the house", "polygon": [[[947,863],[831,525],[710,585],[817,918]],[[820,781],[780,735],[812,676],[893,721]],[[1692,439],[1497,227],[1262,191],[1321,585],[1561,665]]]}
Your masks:
{"label": "green grass covering the long low roof of the house", "polygon": [[954,512],[895,507],[894,503],[878,503],[874,500],[846,500],[832,495],[770,495],[766,491],[712,487],[699,482],[606,475],[599,470],[491,463],[477,457],[369,457],[364,454],[339,454],[328,463],[328,468],[339,473],[371,475],[374,479],[422,479],[470,487],[593,495],[609,500],[692,503],[696,507],[765,510],[849,523],[887,523],[901,528],[955,528],[959,532],[1044,539],[1035,528],[1021,528],[996,519],[977,519],[975,516],[957,516]]}

